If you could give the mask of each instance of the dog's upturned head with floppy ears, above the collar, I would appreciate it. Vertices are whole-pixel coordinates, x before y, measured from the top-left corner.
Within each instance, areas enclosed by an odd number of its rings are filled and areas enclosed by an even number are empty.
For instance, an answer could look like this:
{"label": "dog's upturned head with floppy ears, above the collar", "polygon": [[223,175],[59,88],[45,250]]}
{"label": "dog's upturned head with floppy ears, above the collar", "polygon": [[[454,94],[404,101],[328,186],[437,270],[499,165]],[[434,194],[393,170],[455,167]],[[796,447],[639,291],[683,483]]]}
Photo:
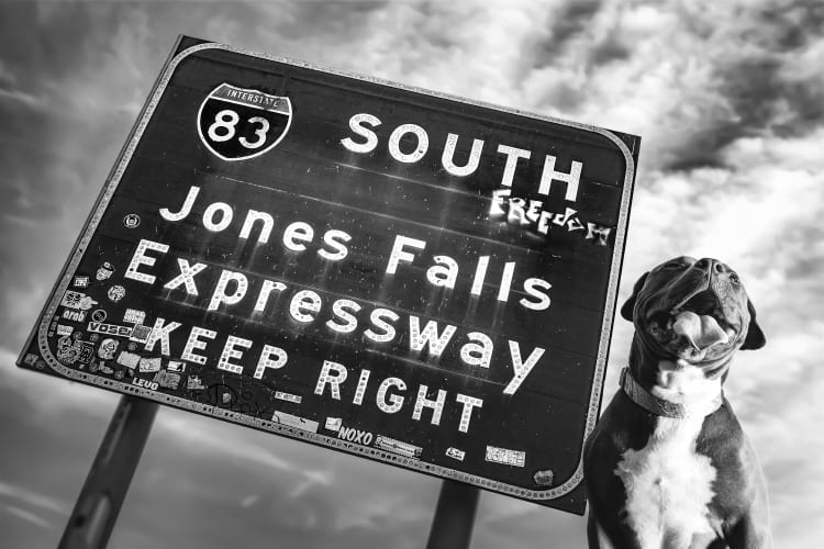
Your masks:
{"label": "dog's upturned head with floppy ears, above the collar", "polygon": [[765,344],[738,274],[716,259],[677,257],[655,267],[635,283],[621,315],[661,359],[714,365]]}

